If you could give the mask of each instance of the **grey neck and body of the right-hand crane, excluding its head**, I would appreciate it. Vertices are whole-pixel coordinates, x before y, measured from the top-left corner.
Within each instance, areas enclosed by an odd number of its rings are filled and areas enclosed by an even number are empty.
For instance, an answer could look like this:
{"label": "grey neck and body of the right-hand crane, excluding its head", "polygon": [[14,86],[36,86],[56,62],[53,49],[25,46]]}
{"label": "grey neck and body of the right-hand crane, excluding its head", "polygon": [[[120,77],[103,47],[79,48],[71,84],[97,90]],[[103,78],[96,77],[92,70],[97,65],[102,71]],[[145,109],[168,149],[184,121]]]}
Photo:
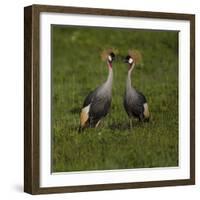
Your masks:
{"label": "grey neck and body of the right-hand crane, excluding its head", "polygon": [[124,108],[130,118],[136,117],[143,121],[144,119],[149,119],[148,105],[145,96],[131,85],[131,72],[133,68],[134,65],[128,71]]}

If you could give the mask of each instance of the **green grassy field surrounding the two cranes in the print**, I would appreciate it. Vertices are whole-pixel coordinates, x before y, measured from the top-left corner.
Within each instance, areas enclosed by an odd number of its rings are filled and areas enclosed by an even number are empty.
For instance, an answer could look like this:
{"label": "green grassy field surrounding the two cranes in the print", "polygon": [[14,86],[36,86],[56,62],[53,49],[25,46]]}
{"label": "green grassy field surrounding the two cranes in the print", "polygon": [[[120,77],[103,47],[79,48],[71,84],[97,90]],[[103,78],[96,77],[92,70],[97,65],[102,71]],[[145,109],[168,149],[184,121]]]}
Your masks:
{"label": "green grassy field surrounding the two cranes in the print", "polygon": [[[81,27],[52,27],[52,162],[54,172],[178,165],[178,34]],[[129,121],[123,108],[127,66],[113,63],[110,113],[98,129],[78,133],[89,91],[107,78],[103,49],[141,51],[133,85],[147,98],[149,123]]]}

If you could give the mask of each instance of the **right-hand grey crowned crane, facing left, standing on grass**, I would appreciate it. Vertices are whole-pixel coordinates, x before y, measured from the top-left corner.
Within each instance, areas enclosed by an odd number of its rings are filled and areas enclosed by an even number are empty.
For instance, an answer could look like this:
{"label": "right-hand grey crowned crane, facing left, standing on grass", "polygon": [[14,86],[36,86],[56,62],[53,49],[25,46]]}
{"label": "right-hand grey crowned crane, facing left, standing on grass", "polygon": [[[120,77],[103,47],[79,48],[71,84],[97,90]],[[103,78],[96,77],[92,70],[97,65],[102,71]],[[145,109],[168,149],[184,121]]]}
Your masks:
{"label": "right-hand grey crowned crane, facing left, standing on grass", "polygon": [[130,51],[125,57],[124,62],[128,64],[128,75],[126,80],[126,91],[124,95],[124,108],[130,119],[130,128],[132,129],[132,118],[138,118],[139,121],[149,121],[149,109],[145,96],[137,91],[131,84],[131,73],[141,59],[138,51]]}

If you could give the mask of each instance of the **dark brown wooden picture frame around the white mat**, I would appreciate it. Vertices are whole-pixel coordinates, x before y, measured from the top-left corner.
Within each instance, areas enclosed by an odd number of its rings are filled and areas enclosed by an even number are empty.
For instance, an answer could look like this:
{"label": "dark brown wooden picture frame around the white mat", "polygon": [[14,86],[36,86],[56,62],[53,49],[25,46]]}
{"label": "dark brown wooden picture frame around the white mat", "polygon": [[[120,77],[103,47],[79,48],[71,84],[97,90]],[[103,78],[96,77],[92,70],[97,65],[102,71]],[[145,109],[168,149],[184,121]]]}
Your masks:
{"label": "dark brown wooden picture frame around the white mat", "polygon": [[[190,25],[189,177],[173,180],[114,182],[41,187],[40,185],[40,28],[41,13],[79,14],[186,21]],[[49,149],[50,151],[50,149]],[[67,180],[66,180],[67,181]],[[195,184],[195,16],[192,14],[32,5],[24,9],[24,191],[30,194],[83,192]]]}

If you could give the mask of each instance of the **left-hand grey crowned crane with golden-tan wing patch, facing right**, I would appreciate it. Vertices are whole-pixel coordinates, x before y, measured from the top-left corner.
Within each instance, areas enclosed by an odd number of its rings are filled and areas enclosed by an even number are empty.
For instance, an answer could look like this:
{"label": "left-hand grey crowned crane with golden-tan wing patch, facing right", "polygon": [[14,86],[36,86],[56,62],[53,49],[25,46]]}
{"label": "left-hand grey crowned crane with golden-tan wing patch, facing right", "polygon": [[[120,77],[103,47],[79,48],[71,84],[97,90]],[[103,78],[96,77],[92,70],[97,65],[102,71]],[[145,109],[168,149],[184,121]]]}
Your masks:
{"label": "left-hand grey crowned crane with golden-tan wing patch, facing right", "polygon": [[104,51],[102,57],[107,62],[108,77],[105,83],[91,91],[85,98],[80,113],[79,132],[86,127],[97,127],[111,106],[113,69],[115,54],[111,50]]}

